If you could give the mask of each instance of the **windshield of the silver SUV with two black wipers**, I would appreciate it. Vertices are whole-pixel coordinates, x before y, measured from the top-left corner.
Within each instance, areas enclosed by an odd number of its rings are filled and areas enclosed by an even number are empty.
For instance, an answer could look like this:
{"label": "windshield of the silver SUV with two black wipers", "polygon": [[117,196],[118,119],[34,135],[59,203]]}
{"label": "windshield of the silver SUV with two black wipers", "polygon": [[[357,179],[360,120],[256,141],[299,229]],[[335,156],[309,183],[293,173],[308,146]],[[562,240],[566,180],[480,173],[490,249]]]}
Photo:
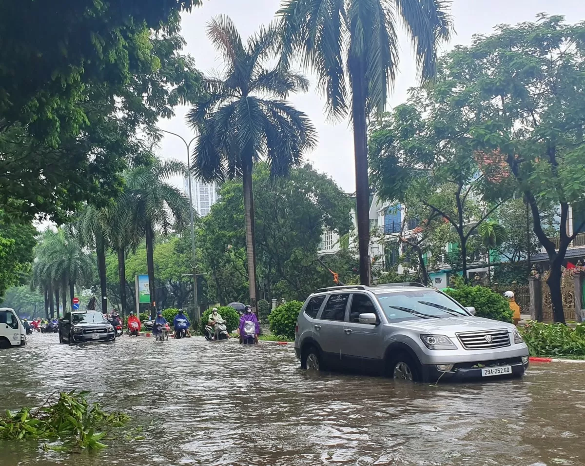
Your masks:
{"label": "windshield of the silver SUV with two black wipers", "polygon": [[447,296],[433,290],[380,293],[376,297],[390,321],[406,318],[469,317],[466,311]]}

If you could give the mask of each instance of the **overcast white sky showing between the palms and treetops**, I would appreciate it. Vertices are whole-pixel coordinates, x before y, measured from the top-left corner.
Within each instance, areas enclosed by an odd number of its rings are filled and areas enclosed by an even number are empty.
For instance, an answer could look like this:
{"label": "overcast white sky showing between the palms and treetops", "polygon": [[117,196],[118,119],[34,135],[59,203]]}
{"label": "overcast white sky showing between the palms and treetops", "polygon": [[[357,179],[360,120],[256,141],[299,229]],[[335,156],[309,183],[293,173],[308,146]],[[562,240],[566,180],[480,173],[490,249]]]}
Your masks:
{"label": "overcast white sky showing between the palms and treetops", "polygon": [[[190,53],[197,68],[207,72],[221,68],[214,48],[205,36],[205,25],[216,15],[230,16],[243,38],[254,33],[261,24],[269,23],[278,9],[279,0],[203,0],[203,6],[188,15],[183,15],[183,36],[187,40],[184,52]],[[536,13],[547,12],[565,15],[568,22],[585,19],[585,2],[583,0],[453,0],[452,14],[455,20],[456,35],[449,49],[455,44],[469,44],[472,35],[489,33],[495,25],[515,24],[534,20]],[[393,95],[388,100],[388,108],[401,104],[409,87],[416,85],[415,65],[411,55],[410,44],[403,40],[401,46],[400,74],[396,81]],[[353,139],[347,122],[332,124],[323,114],[324,100],[314,88],[307,94],[294,95],[292,103],[312,119],[319,133],[319,145],[305,158],[316,169],[328,173],[346,192],[355,191],[355,172],[353,166]],[[185,124],[187,108],[177,108],[176,116],[160,122],[160,128],[173,131],[185,139],[194,134]],[[188,140],[187,139],[187,140]],[[175,136],[167,135],[160,144],[162,157],[173,157],[186,162],[186,150],[183,142]],[[182,186],[180,180],[177,184]]]}

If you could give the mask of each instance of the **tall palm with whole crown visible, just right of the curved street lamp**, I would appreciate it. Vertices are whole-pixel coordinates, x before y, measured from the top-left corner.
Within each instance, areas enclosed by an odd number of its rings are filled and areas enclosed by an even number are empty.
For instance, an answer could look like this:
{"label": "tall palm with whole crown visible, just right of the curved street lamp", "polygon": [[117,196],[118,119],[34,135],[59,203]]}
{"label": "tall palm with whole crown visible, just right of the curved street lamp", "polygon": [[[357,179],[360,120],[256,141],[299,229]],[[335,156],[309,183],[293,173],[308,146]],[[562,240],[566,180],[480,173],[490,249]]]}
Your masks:
{"label": "tall palm with whole crown visible, just right of the curved street lamp", "polygon": [[307,91],[308,81],[288,66],[269,67],[278,29],[262,28],[244,44],[232,20],[218,16],[207,33],[225,61],[221,78],[205,78],[207,93],[187,118],[200,134],[194,172],[205,181],[242,176],[250,304],[256,306],[256,246],[252,167],[265,156],[273,175],[287,174],[314,147],[308,116],[284,99]]}

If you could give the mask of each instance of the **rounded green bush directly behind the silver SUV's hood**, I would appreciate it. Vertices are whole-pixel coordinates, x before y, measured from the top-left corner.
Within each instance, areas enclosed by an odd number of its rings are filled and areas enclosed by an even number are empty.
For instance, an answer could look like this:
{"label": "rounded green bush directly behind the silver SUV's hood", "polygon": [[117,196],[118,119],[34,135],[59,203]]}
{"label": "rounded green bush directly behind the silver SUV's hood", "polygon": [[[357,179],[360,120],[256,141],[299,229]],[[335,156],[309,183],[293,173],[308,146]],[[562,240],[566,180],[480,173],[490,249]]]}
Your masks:
{"label": "rounded green bush directly behind the silver SUV's hood", "polygon": [[502,322],[512,322],[512,311],[508,301],[500,294],[484,286],[462,286],[447,289],[445,293],[463,306],[473,306],[477,317],[486,317]]}

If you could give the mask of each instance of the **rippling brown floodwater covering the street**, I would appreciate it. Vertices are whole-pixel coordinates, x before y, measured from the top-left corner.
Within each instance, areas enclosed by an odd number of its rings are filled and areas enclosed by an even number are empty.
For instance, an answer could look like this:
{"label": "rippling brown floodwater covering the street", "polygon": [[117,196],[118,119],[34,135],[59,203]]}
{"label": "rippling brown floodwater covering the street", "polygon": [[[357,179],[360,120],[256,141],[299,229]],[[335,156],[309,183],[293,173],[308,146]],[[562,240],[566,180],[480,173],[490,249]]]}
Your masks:
{"label": "rippling brown floodwater covering the street", "polygon": [[435,387],[305,374],[290,344],[123,337],[69,347],[35,334],[0,351],[2,412],[73,389],[128,412],[129,426],[98,453],[0,443],[1,466],[585,464],[585,364]]}

